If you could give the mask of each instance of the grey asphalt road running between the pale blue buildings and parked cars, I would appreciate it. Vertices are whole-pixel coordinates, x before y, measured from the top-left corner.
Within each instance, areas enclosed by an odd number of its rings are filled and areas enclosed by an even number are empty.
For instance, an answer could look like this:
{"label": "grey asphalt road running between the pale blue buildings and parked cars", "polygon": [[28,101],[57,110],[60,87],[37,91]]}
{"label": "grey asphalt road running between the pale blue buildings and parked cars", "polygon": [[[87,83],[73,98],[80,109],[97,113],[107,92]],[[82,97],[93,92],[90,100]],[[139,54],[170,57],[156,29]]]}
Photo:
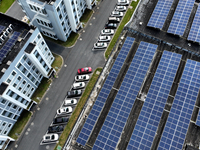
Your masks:
{"label": "grey asphalt road running between the pale blue buildings and parked cars", "polygon": [[[92,48],[116,2],[116,0],[102,1],[94,8],[93,16],[84,31],[80,32],[80,37],[72,48],[65,48],[47,41],[52,52],[63,57],[64,65],[58,74],[58,79],[54,79],[41,103],[34,108],[33,116],[19,140],[8,146],[9,150],[51,150],[54,148],[55,144],[40,146],[42,137],[51,124],[56,110],[61,106],[66,92],[70,90],[77,69],[91,66],[95,70],[97,67],[104,66],[104,51],[92,51]],[[19,10],[11,8],[7,13],[14,16],[15,11]]]}

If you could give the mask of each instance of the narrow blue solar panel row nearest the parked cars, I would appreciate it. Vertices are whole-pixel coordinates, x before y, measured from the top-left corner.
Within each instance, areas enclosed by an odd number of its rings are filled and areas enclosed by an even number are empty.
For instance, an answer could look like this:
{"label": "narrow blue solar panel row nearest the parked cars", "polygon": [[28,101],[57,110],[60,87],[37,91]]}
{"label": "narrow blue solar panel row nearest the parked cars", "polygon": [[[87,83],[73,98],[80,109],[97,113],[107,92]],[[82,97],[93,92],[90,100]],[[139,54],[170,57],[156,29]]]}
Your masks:
{"label": "narrow blue solar panel row nearest the parked cars", "polygon": [[100,112],[104,106],[104,103],[110,93],[110,90],[120,72],[120,69],[128,55],[128,52],[134,42],[134,38],[127,37],[121,51],[118,54],[117,59],[115,60],[115,63],[96,99],[96,102],[94,103],[94,106],[77,138],[77,142],[80,143],[81,145],[85,145],[90,133],[92,132],[92,129],[100,115]]}

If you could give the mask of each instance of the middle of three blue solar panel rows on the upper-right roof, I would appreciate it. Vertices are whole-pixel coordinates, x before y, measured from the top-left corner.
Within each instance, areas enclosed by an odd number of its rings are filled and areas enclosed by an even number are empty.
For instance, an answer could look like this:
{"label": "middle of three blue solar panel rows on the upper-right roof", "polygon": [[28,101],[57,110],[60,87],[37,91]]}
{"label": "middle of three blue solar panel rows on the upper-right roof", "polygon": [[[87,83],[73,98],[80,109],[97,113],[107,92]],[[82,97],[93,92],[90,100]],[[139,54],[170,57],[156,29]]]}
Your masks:
{"label": "middle of three blue solar panel rows on the upper-right roof", "polygon": [[195,0],[179,0],[168,33],[183,36]]}

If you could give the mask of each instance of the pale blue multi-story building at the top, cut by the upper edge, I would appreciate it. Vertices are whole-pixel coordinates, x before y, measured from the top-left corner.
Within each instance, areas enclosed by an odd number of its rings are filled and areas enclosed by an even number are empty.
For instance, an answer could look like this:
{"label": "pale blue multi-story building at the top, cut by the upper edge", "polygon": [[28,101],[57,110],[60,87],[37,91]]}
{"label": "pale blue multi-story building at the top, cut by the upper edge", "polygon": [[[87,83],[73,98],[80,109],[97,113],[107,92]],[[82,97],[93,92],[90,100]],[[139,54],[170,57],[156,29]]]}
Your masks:
{"label": "pale blue multi-story building at the top, cut by the upper edge", "polygon": [[66,41],[77,32],[86,8],[92,9],[96,0],[17,0],[31,24],[45,36]]}

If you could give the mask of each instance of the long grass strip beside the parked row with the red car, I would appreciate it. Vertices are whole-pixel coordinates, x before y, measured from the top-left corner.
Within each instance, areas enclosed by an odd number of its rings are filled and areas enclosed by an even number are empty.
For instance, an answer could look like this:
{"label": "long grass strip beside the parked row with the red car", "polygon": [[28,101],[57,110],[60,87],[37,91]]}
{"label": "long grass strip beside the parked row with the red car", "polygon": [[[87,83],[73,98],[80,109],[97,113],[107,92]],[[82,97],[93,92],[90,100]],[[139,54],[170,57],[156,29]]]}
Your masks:
{"label": "long grass strip beside the parked row with the red car", "polygon": [[83,106],[85,105],[85,102],[87,101],[88,99],[88,96],[90,95],[93,87],[94,87],[94,84],[96,83],[99,75],[96,74],[96,72],[99,71],[101,72],[102,71],[102,68],[97,68],[95,70],[95,72],[93,73],[87,87],[85,88],[85,91],[83,93],[83,95],[81,96],[81,99],[79,100],[74,112],[72,113],[70,119],[69,119],[69,122],[68,124],[66,125],[64,131],[62,132],[60,138],[59,138],[59,143],[56,145],[56,147],[54,148],[54,150],[56,150],[57,146],[60,145],[61,147],[64,146],[65,144],[65,141],[67,140],[74,124],[76,123],[76,120],[83,108]]}

